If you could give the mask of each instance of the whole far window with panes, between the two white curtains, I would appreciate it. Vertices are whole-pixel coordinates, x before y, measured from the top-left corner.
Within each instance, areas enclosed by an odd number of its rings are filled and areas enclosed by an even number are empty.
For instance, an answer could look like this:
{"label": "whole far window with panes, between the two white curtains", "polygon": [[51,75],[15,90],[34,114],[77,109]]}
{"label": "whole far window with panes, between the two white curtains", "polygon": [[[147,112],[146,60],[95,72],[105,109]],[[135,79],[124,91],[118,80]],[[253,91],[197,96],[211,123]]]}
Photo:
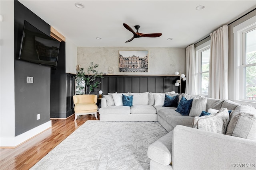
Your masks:
{"label": "whole far window with panes, between the two white curtains", "polygon": [[210,66],[210,41],[195,48],[197,65],[197,94],[208,96],[209,66]]}

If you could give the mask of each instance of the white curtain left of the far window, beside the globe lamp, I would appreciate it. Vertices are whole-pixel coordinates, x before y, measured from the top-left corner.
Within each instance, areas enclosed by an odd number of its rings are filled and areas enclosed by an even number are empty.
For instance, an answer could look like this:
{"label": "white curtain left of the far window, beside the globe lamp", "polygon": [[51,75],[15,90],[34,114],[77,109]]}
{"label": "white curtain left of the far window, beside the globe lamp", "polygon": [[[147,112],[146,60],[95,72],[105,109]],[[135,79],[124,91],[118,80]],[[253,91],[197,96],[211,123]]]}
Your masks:
{"label": "white curtain left of the far window, beside the globe lamp", "polygon": [[195,95],[197,91],[196,83],[196,55],[194,44],[186,47],[186,90],[190,95]]}

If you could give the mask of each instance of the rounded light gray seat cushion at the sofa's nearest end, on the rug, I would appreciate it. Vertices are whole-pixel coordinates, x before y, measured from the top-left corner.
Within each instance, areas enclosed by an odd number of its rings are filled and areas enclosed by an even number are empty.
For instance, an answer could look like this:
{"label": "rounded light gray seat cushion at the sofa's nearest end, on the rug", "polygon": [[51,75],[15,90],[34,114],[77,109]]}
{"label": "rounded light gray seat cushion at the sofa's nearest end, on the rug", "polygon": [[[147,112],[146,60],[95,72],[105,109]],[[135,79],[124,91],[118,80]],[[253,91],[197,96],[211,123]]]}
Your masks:
{"label": "rounded light gray seat cushion at the sofa's nearest end, on the rug", "polygon": [[148,158],[162,165],[172,162],[172,134],[170,131],[148,147]]}

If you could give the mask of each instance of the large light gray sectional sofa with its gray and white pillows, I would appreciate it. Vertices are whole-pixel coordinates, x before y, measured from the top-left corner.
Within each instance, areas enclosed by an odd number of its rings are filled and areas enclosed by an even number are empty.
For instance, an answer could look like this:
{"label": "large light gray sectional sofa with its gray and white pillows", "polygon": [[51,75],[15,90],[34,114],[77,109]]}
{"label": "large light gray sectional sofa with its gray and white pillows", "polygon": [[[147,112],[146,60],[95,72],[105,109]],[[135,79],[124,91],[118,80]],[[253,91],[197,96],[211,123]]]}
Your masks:
{"label": "large light gray sectional sofa with its gray and white pillows", "polygon": [[[178,95],[178,107],[184,98],[192,101],[189,114],[178,113],[177,107],[164,107],[165,94]],[[121,95],[114,94],[119,102]],[[124,95],[133,96],[133,106],[115,106],[117,99],[110,101],[113,94],[102,98],[100,121],[158,121],[168,133],[148,147],[150,169],[256,168],[253,106],[173,92]],[[199,116],[202,110],[211,114]]]}

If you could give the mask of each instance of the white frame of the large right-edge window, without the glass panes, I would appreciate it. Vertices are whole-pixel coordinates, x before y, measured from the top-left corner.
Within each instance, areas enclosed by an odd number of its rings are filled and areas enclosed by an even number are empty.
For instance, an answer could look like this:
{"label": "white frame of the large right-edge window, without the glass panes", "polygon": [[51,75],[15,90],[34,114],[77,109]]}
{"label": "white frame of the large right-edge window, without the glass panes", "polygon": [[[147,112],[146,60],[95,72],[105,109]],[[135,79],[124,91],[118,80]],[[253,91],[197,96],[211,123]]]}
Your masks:
{"label": "white frame of the large right-edge window, without the glass panes", "polygon": [[[255,64],[246,64],[246,33],[256,29],[256,16],[236,25],[234,33],[234,102],[256,104],[256,100],[245,99],[245,68]],[[241,90],[242,89],[242,90]]]}

